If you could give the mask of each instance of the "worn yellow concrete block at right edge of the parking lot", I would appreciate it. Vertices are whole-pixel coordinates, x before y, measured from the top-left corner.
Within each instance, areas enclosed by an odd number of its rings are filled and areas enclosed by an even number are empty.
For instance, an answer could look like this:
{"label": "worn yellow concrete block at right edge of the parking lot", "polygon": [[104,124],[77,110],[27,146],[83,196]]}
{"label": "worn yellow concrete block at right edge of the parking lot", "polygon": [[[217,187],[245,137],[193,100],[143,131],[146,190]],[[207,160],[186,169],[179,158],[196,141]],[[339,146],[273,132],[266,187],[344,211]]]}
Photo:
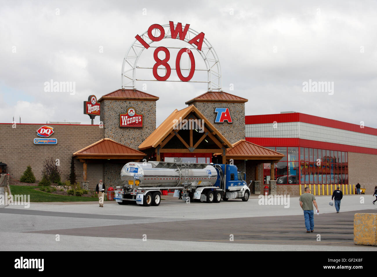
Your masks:
{"label": "worn yellow concrete block at right edge of the parking lot", "polygon": [[354,243],[377,246],[377,213],[355,214]]}

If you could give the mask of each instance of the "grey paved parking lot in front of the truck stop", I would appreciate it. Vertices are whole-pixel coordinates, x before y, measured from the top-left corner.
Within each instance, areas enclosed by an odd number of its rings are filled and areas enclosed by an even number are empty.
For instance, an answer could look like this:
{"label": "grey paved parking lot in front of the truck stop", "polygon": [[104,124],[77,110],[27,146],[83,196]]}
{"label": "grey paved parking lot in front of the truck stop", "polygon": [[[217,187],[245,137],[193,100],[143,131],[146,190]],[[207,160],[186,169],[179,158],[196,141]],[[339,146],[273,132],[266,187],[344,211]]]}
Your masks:
{"label": "grey paved parking lot in front of the truck stop", "polygon": [[[353,244],[353,216],[376,212],[371,196],[344,196],[340,213],[317,197],[307,234],[298,197],[289,207],[229,200],[190,203],[165,197],[158,207],[97,203],[32,203],[0,209],[0,250],[307,250],[375,251]],[[371,198],[369,201],[369,198]],[[57,236],[58,235],[58,236]],[[59,241],[57,241],[57,237]],[[320,237],[320,241],[317,238]],[[233,239],[233,240],[230,240]]]}

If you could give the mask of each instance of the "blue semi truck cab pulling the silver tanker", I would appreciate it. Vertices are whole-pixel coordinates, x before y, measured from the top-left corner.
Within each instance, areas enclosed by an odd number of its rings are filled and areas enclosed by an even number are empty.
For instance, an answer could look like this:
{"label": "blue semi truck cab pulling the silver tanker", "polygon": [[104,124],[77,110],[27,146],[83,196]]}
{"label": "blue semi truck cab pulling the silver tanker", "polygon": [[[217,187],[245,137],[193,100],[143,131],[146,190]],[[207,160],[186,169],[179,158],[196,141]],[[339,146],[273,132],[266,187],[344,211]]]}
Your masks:
{"label": "blue semi truck cab pulling the silver tanker", "polygon": [[242,201],[249,200],[250,188],[244,181],[245,174],[241,174],[241,171],[238,171],[238,168],[232,164],[213,164],[213,167],[218,176],[214,186],[222,189],[223,200],[238,198]]}

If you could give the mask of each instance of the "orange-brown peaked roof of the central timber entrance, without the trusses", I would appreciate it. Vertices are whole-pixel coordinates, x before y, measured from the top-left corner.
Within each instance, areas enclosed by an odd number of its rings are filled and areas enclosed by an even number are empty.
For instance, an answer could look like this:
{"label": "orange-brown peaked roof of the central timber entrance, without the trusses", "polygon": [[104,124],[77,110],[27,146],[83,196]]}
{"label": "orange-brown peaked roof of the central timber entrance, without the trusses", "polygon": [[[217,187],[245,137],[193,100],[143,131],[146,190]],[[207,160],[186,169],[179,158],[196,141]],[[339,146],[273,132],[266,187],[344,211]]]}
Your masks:
{"label": "orange-brown peaked roof of the central timber entrance, without the trusses", "polygon": [[158,147],[158,145],[170,134],[170,132],[173,131],[173,127],[175,125],[174,119],[177,119],[178,121],[179,118],[185,119],[190,113],[194,113],[198,119],[204,119],[204,124],[207,129],[211,132],[215,132],[215,137],[218,138],[220,142],[226,144],[224,147],[231,147],[231,143],[223,135],[221,135],[221,133],[211,124],[211,122],[208,121],[207,118],[205,118],[204,115],[202,115],[201,112],[199,112],[198,109],[196,109],[194,105],[191,105],[182,110],[175,109],[165,119],[165,121],[162,122],[161,125],[159,125],[157,129],[154,130],[153,133],[139,145],[139,149],[143,150],[146,148]]}

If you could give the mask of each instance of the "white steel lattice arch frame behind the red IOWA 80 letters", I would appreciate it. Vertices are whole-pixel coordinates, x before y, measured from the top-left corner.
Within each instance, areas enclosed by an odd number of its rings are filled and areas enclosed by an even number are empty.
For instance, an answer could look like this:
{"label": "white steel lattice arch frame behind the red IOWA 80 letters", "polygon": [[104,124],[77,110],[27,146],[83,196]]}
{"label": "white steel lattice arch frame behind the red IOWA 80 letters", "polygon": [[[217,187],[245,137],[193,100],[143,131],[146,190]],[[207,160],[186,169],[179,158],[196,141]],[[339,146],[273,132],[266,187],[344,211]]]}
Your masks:
{"label": "white steel lattice arch frame behind the red IOWA 80 letters", "polygon": [[[177,24],[174,24],[174,29],[176,29]],[[183,27],[183,26],[182,26]],[[170,33],[170,25],[162,25],[162,28],[164,28],[165,35],[164,38],[172,38],[172,35]],[[184,28],[184,27],[183,27]],[[157,29],[154,29],[155,36],[158,36]],[[199,32],[193,30],[192,28],[189,28],[184,40],[187,43],[192,40],[196,35],[198,35]],[[154,41],[152,41],[148,37],[148,31],[144,32],[143,35],[140,35],[140,37],[146,41],[147,44],[152,44]],[[177,35],[177,39],[179,37],[179,34]],[[180,39],[180,37],[179,37]],[[153,46],[150,46],[153,47]],[[166,48],[176,48],[181,49],[181,47],[166,47]],[[207,69],[195,69],[196,70],[205,70],[207,71],[208,79],[207,81],[187,81],[190,83],[207,83],[208,85],[208,91],[212,90],[222,90],[222,78],[221,78],[221,67],[220,67],[220,61],[216,54],[215,49],[213,49],[212,45],[209,43],[209,41],[204,37],[203,44],[201,51],[199,51],[198,47],[195,44],[190,44],[190,47],[187,47],[190,50],[196,49],[198,53],[201,55],[201,57],[204,60],[205,66]],[[122,78],[122,89],[136,89],[136,81],[157,81],[157,80],[146,80],[146,79],[138,79],[136,78],[136,69],[152,69],[152,67],[139,67],[137,66],[139,57],[141,53],[143,53],[145,47],[135,39],[133,44],[128,49],[126,56],[123,59],[122,64],[122,72],[121,72],[121,78]],[[172,70],[175,68],[172,68]],[[169,81],[166,80],[166,82],[182,82],[182,81]]]}

